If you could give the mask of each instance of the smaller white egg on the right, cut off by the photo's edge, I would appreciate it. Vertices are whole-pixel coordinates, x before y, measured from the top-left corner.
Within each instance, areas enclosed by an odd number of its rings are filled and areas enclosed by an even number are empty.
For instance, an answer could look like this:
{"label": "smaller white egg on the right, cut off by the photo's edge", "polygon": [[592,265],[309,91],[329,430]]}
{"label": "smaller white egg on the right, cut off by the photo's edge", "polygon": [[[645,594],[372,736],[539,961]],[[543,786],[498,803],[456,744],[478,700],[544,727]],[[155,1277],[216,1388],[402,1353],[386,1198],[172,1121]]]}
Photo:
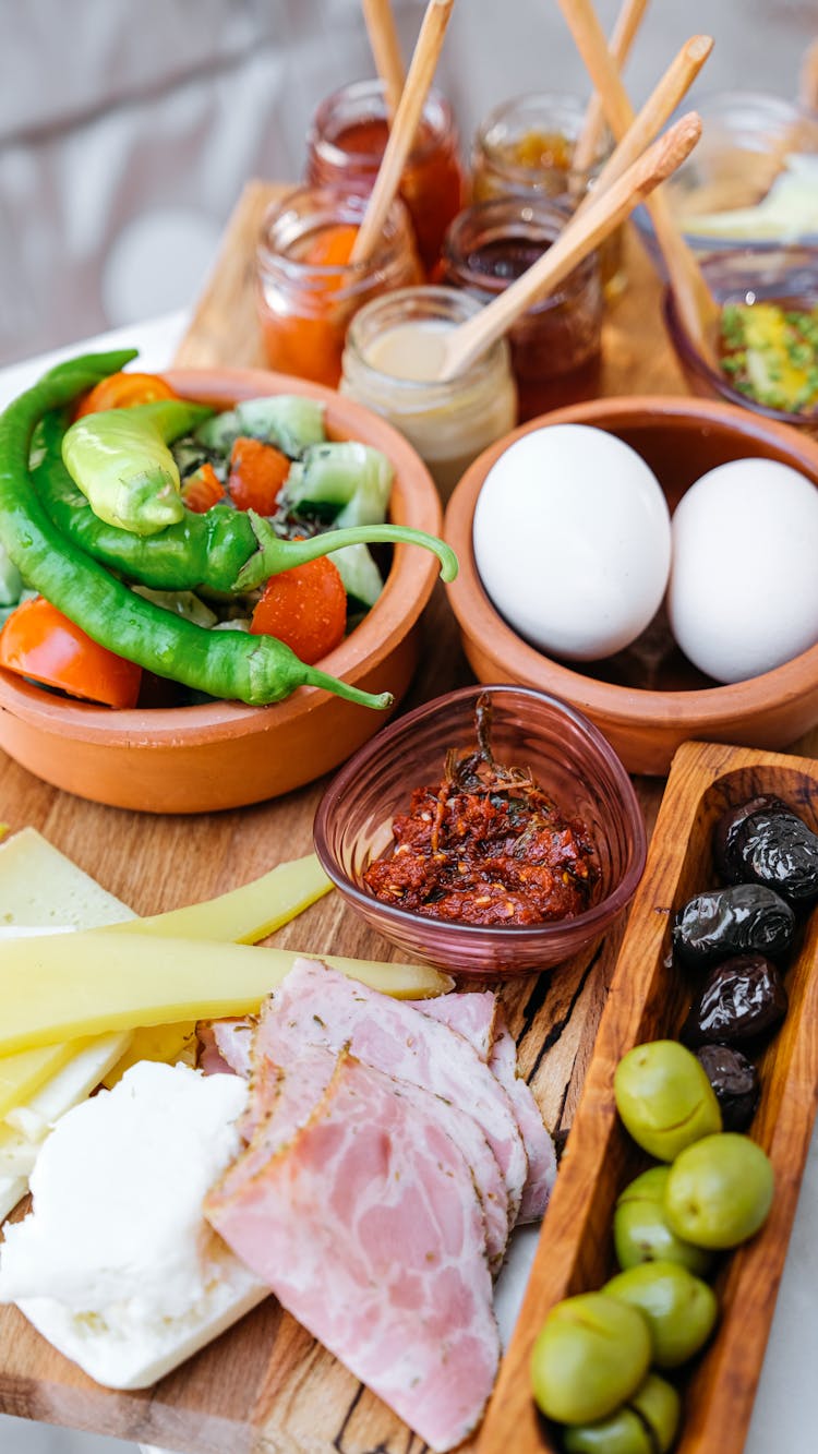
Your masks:
{"label": "smaller white egg on the right, cut off by the photo's edge", "polygon": [[673,516],[670,624],[716,682],[744,682],[818,641],[818,489],[774,459],[703,474]]}

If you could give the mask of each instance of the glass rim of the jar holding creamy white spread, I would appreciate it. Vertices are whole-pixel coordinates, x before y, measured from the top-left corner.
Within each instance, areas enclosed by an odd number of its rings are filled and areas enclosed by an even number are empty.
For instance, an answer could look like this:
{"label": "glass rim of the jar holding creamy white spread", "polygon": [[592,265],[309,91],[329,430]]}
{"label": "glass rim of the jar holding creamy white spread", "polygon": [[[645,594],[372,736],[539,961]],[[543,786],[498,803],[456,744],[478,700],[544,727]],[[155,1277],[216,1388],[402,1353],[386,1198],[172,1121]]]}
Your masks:
{"label": "glass rim of the jar holding creamy white spread", "polygon": [[[344,343],[344,359],[349,356],[356,377],[360,378],[363,387],[370,387],[375,393],[378,387],[389,388],[395,395],[401,397],[407,407],[420,407],[421,404],[429,404],[434,407],[436,404],[445,404],[452,395],[452,390],[456,388],[475,388],[484,384],[491,375],[498,369],[506,366],[511,368],[509,343],[504,337],[497,339],[481,353],[479,358],[474,361],[462,374],[458,374],[453,379],[417,379],[417,378],[398,378],[394,374],[388,374],[370,364],[366,358],[366,342],[360,339],[360,333],[366,330],[372,318],[378,318],[378,314],[397,314],[388,323],[388,327],[397,327],[400,323],[414,321],[411,317],[401,317],[401,311],[405,308],[418,310],[421,305],[430,305],[426,317],[430,320],[450,317],[452,311],[459,311],[462,314],[456,321],[466,321],[475,313],[479,313],[482,304],[468,292],[462,292],[458,288],[445,288],[439,285],[426,285],[420,288],[395,288],[391,292],[381,294],[378,298],[372,298],[370,302],[360,308],[355,318],[352,320],[346,343]],[[437,311],[433,311],[437,310]],[[449,314],[446,314],[449,310]],[[381,332],[386,332],[382,329]],[[376,336],[376,334],[375,334]]]}

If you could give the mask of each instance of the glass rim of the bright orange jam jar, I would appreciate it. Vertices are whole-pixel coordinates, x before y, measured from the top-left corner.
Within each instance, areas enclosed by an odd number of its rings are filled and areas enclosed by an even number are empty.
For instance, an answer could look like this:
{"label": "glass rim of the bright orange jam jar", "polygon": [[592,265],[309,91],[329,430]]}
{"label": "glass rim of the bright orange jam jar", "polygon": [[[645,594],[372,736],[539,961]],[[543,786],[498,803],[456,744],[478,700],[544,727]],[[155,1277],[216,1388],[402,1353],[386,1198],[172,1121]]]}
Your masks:
{"label": "glass rim of the bright orange jam jar", "polygon": [[[389,206],[384,231],[369,257],[356,263],[305,263],[288,256],[286,247],[309,233],[333,225],[359,227],[368,198],[340,188],[299,186],[272,202],[262,220],[256,260],[262,275],[275,275],[305,291],[337,291],[339,298],[368,284],[375,272],[385,272],[400,259],[405,246],[414,249],[408,212],[400,198]],[[309,209],[299,215],[301,206]],[[276,230],[279,233],[276,243]]]}

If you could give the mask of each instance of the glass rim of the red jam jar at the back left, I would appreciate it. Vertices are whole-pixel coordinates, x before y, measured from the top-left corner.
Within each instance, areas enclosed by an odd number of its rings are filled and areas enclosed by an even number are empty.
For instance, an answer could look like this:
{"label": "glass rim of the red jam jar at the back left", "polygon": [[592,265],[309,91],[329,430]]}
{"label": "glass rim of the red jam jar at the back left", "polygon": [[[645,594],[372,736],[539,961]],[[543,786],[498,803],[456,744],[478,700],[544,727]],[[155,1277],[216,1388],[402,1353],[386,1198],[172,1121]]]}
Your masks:
{"label": "glass rim of the red jam jar at the back left", "polygon": [[[343,106],[350,106],[350,116],[339,119],[334,137],[328,135],[331,119]],[[357,112],[356,108],[359,108]],[[376,172],[379,157],[375,153],[347,151],[344,147],[339,147],[336,138],[343,134],[344,126],[355,126],[362,121],[370,119],[388,121],[388,115],[384,81],[378,77],[347,81],[346,86],[339,86],[337,90],[330,92],[315,108],[309,122],[307,145],[321,161],[336,170],[355,172],[370,169]],[[434,87],[429,90],[423,103],[421,119],[426,122],[426,129],[418,128],[416,134],[416,141],[408,156],[408,166],[423,163],[437,150],[440,141],[455,129],[452,108]]]}

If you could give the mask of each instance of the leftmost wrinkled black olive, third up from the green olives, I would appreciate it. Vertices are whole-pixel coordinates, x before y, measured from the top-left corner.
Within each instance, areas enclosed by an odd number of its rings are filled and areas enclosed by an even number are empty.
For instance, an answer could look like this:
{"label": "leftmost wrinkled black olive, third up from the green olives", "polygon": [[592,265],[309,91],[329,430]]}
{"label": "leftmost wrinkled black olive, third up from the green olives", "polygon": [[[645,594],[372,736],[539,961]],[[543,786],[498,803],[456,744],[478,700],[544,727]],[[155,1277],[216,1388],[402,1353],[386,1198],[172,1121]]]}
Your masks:
{"label": "leftmost wrinkled black olive, third up from the green olives", "polygon": [[731,884],[690,899],[673,922],[673,948],[692,970],[732,954],[779,960],[792,944],[795,915],[764,884]]}

